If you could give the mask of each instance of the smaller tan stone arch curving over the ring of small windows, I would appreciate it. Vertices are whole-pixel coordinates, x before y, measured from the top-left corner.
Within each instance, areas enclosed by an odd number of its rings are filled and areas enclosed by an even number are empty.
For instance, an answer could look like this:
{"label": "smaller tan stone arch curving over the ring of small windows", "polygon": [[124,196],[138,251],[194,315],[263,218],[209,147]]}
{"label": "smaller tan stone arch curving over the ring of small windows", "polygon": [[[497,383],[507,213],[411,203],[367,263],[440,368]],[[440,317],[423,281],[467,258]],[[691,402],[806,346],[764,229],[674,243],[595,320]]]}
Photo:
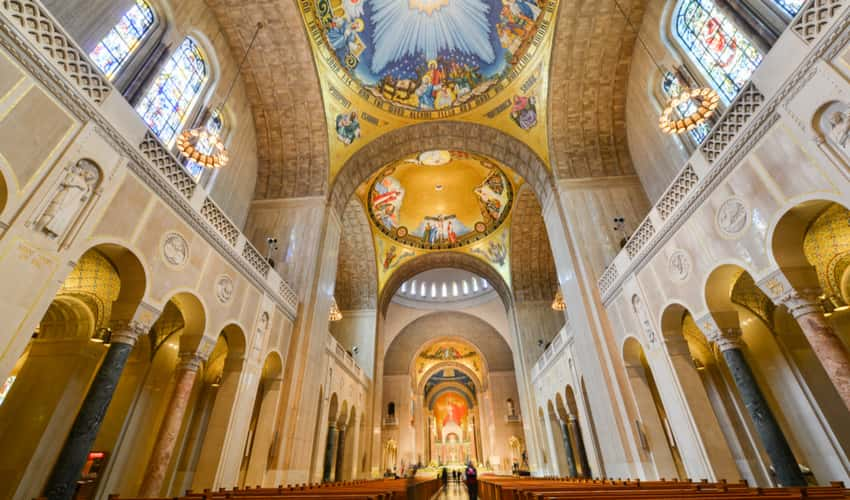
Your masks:
{"label": "smaller tan stone arch curving over the ring of small windows", "polygon": [[386,316],[387,308],[401,284],[419,273],[437,267],[453,267],[477,274],[486,279],[502,298],[505,309],[513,304],[513,294],[510,285],[492,266],[481,259],[460,252],[429,252],[401,264],[390,276],[381,290],[378,300],[378,310]]}

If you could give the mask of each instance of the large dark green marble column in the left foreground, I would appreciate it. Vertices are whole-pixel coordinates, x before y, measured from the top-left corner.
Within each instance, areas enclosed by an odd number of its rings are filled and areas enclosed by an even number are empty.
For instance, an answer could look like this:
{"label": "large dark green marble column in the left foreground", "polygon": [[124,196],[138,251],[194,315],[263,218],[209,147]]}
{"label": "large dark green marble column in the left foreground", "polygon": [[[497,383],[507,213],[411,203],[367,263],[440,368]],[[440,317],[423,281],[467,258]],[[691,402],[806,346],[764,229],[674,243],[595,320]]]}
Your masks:
{"label": "large dark green marble column in the left foreground", "polygon": [[94,376],[83,405],[71,426],[68,439],[62,446],[53,472],[47,480],[44,496],[49,500],[73,498],[76,482],[86,465],[88,453],[103,423],[130,352],[136,345],[136,340],[146,332],[147,328],[135,321],[114,328],[106,356]]}

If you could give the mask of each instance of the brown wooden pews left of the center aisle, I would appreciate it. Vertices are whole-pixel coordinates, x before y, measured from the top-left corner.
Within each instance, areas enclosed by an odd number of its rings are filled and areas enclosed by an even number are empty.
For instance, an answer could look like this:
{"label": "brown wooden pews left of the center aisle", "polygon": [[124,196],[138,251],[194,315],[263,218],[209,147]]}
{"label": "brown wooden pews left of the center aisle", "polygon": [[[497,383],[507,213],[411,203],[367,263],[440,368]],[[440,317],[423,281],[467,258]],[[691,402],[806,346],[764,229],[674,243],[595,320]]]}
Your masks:
{"label": "brown wooden pews left of the center aisle", "polygon": [[[183,496],[153,500],[430,500],[439,489],[438,479],[374,479],[277,488],[258,486],[202,492],[188,490]],[[142,499],[109,495],[109,500]]]}

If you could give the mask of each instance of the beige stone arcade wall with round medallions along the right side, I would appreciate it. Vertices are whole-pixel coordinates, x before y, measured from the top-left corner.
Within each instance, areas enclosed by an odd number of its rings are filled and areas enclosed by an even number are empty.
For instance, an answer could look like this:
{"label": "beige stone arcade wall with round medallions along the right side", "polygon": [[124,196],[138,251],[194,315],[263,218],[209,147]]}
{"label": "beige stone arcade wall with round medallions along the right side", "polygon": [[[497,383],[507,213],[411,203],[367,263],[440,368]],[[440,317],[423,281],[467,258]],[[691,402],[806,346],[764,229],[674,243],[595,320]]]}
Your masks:
{"label": "beige stone arcade wall with round medallions along the right side", "polygon": [[[783,34],[753,77],[764,96],[760,113],[732,110],[726,120],[737,122],[737,137],[710,137],[689,159],[700,178],[692,193],[699,194],[668,198],[679,205],[681,217],[671,216],[669,206],[654,207],[647,219],[654,234],[642,233],[600,282],[612,362],[616,372],[628,374],[618,376],[630,401],[622,411],[627,420],[646,419],[641,389],[624,361],[624,346],[636,339],[656,381],[665,381],[659,384],[660,398],[689,475],[697,470],[739,474],[769,484],[769,462],[716,348],[701,331],[687,337],[684,350],[677,343],[681,323],[676,326],[670,318],[684,311],[699,328],[705,328],[703,318],[737,313],[746,359],[797,460],[821,484],[850,474],[850,441],[840,423],[848,414],[796,321],[776,306],[768,326],[754,309],[730,299],[740,272],[764,285],[771,276],[791,276],[793,266],[807,265],[804,258],[789,260],[802,255],[801,235],[811,221],[805,207],[817,211],[830,202],[847,206],[850,201],[850,157],[828,137],[823,118],[824,109],[846,102],[850,92],[846,19],[842,11],[833,18],[836,24],[828,25],[842,36],[823,36],[829,28],[818,31],[822,38],[816,34],[806,41],[793,31]],[[794,74],[798,64],[803,69]],[[737,203],[741,222],[736,225],[724,210]],[[789,224],[789,217],[796,222]],[[794,232],[800,225],[800,233]],[[778,300],[758,293],[768,303]],[[643,313],[634,297],[645,305],[646,319],[639,317]],[[829,321],[846,343],[846,318],[836,313]],[[704,374],[695,375],[691,358],[702,360]],[[712,426],[722,431],[706,433]],[[724,439],[716,438],[720,434]],[[642,457],[642,474],[651,476],[653,467],[651,458]]]}

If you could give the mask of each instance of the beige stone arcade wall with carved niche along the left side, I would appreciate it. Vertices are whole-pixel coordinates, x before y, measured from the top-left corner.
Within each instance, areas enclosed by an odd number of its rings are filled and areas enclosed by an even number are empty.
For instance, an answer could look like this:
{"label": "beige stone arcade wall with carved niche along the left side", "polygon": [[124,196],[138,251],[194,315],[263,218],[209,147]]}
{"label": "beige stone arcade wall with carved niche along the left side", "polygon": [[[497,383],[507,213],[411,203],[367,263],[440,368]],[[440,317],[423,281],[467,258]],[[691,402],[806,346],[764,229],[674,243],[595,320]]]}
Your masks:
{"label": "beige stone arcade wall with carved niche along the left side", "polygon": [[[18,29],[13,21],[0,11],[4,28]],[[58,27],[52,29],[54,36],[61,36]],[[20,40],[27,48],[28,35]],[[160,347],[157,353],[170,355],[154,357],[153,364],[146,339],[137,344],[95,443],[110,453],[110,481],[102,486],[125,496],[137,493],[168,402],[177,351],[198,349],[206,356],[225,328],[239,332],[231,340],[241,337],[243,359],[234,366],[232,400],[213,415],[211,425],[217,429],[214,434],[222,451],[205,457],[198,471],[206,484],[233,485],[251,420],[245,411],[254,407],[257,381],[269,353],[287,359],[295,304],[281,295],[285,287],[278,288],[279,276],[254,258],[244,236],[238,228],[227,226],[206,191],[181,183],[185,177],[167,153],[139,146],[144,125],[117,91],[96,82],[77,86],[78,75],[63,72],[48,58],[62,54],[18,51],[14,45],[0,51],[0,184],[4,189],[0,275],[5,277],[0,309],[8,325],[0,333],[0,373],[5,376],[17,370],[25,352],[29,352],[28,360],[38,359],[42,347],[40,341],[30,343],[33,332],[80,257],[89,249],[100,249],[115,259],[122,279],[121,297],[136,297],[121,299],[107,320],[135,319],[149,328],[166,303],[178,297],[186,323],[179,345]],[[41,57],[45,58],[34,61]],[[30,69],[35,67],[42,69]],[[94,180],[86,184],[84,197],[75,198],[67,183],[83,165],[81,160],[90,165]],[[52,219],[45,219],[45,214],[52,214]],[[67,224],[60,222],[64,219]],[[56,233],[48,232],[48,227]],[[228,284],[223,286],[222,280]],[[34,285],[22,287],[22,283]],[[262,319],[264,313],[268,320]],[[67,352],[72,358],[67,366],[74,373],[56,384],[61,394],[42,393],[53,400],[45,401],[52,405],[43,413],[46,428],[26,431],[11,425],[7,420],[15,418],[11,410],[0,416],[2,432],[12,432],[4,442],[18,450],[5,455],[8,466],[2,467],[0,496],[40,494],[60,451],[56,443],[67,434],[105,352],[102,345],[82,342],[80,349]],[[37,349],[27,351],[28,345]],[[60,359],[51,353],[58,351],[44,351],[48,355],[44,359],[53,363]],[[27,370],[27,362],[20,369]],[[25,385],[13,389],[26,390]],[[198,404],[200,392],[196,387],[190,406]],[[10,398],[14,401],[15,394]],[[13,406],[4,405],[4,410]],[[34,406],[19,409],[31,411]],[[266,425],[276,420],[276,414],[270,415]],[[188,422],[186,429],[191,427]],[[14,444],[18,441],[22,446]],[[180,442],[185,440],[181,437]]]}

